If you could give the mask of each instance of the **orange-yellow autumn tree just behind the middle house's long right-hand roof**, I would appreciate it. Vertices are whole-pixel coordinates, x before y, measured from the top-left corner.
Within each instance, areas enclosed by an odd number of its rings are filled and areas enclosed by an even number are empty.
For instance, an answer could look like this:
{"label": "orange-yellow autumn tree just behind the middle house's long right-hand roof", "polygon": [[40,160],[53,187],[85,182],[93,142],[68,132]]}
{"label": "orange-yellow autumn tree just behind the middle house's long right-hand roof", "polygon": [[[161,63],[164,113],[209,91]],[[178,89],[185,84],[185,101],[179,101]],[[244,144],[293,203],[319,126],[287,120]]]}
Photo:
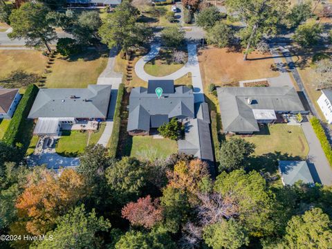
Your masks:
{"label": "orange-yellow autumn tree just behind the middle house's long right-hand roof", "polygon": [[199,159],[179,161],[174,171],[167,172],[167,178],[168,186],[184,191],[192,203],[199,192],[208,192],[211,187],[208,165]]}

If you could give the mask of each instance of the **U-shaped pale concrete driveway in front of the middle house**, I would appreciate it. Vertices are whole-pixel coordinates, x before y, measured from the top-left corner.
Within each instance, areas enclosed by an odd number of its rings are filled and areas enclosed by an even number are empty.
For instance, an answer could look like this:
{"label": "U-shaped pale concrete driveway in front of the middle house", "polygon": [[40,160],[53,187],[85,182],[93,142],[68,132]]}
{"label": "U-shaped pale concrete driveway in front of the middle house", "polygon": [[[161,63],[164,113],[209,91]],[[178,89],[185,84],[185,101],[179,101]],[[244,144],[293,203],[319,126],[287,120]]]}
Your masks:
{"label": "U-shaped pale concrete driveway in front of the middle house", "polygon": [[154,43],[151,45],[151,50],[149,53],[136,62],[135,72],[140,79],[144,81],[149,80],[177,80],[178,78],[183,77],[187,73],[192,73],[192,86],[194,91],[195,102],[204,102],[204,94],[203,94],[203,82],[201,78],[201,71],[199,69],[199,59],[197,57],[197,43],[188,43],[188,62],[180,68],[178,71],[171,73],[167,76],[156,77],[149,75],[145,72],[144,66],[151,59],[154,59],[156,55],[158,55],[160,50],[160,44]]}

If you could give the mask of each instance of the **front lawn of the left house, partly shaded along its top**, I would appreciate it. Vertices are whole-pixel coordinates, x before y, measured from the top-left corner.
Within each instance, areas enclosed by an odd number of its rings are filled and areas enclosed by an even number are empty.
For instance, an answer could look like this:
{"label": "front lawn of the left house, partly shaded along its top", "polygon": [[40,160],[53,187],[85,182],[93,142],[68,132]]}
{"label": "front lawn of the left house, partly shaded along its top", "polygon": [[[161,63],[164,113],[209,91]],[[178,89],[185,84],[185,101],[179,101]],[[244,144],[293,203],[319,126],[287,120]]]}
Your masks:
{"label": "front lawn of the left house, partly shaded along its top", "polygon": [[46,87],[85,88],[96,84],[100,73],[107,65],[107,52],[88,50],[85,53],[64,59],[58,55],[46,76]]}

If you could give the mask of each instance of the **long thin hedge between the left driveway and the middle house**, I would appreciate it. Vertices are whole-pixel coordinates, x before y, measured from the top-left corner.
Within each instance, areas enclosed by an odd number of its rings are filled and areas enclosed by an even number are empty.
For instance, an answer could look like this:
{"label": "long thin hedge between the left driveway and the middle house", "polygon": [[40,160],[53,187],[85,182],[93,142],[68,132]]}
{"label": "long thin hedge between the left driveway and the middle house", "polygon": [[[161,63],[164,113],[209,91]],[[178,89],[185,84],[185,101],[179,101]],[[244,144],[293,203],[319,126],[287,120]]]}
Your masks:
{"label": "long thin hedge between the left driveway and the middle house", "polygon": [[116,98],[116,109],[114,110],[113,117],[113,131],[111,134],[110,145],[109,145],[109,156],[116,158],[116,151],[118,150],[119,133],[121,126],[121,101],[124,94],[124,84],[119,85],[118,96]]}

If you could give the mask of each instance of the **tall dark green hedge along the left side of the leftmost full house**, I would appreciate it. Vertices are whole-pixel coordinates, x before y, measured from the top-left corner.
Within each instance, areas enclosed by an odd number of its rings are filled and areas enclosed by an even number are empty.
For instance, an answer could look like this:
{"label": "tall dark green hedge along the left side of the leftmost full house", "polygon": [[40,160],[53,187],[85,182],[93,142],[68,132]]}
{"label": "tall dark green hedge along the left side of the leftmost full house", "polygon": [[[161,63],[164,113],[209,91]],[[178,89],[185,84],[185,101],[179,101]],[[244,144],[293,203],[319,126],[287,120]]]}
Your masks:
{"label": "tall dark green hedge along the left side of the leftmost full house", "polygon": [[5,135],[3,136],[3,142],[6,142],[8,145],[16,146],[18,142],[23,143],[22,138],[24,133],[28,132],[24,129],[24,124],[31,107],[33,107],[33,102],[37,96],[39,89],[35,84],[30,84],[26,93],[24,93],[21,101],[19,102],[17,109],[10,120],[8,129],[6,130]]}

